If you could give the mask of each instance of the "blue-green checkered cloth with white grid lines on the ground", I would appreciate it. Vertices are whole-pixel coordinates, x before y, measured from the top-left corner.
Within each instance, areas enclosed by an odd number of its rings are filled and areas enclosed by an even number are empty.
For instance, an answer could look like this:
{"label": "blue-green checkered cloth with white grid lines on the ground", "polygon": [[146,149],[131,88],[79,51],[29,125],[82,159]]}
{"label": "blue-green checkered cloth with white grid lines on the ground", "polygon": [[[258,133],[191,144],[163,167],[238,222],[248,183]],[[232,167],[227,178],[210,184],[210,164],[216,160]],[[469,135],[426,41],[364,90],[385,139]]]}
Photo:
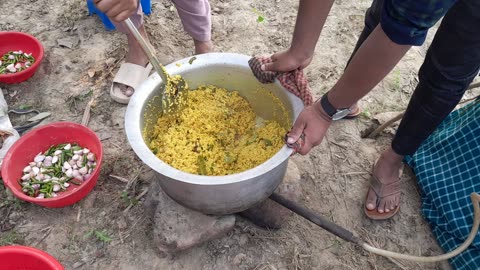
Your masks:
{"label": "blue-green checkered cloth with white grid lines on the ground", "polygon": [[[470,193],[480,193],[480,99],[452,112],[405,161],[422,190],[422,213],[445,251],[467,238],[473,223]],[[480,269],[480,233],[450,263]]]}

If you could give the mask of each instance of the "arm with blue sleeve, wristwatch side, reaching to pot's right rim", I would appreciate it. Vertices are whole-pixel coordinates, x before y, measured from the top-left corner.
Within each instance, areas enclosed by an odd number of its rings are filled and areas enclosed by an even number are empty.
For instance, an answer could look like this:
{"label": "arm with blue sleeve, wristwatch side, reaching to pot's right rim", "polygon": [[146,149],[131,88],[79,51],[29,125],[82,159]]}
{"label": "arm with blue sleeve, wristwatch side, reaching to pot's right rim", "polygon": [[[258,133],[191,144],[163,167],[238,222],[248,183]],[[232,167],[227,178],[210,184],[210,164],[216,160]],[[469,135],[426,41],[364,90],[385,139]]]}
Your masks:
{"label": "arm with blue sleeve, wristwatch side, reaching to pot's right rim", "polygon": [[[421,45],[433,26],[456,0],[385,0],[380,25],[358,49],[345,73],[329,91],[328,99],[336,108],[348,108],[366,95],[400,61],[412,45]],[[320,144],[331,119],[316,102],[306,108],[289,132],[288,143],[305,134],[308,153]]]}

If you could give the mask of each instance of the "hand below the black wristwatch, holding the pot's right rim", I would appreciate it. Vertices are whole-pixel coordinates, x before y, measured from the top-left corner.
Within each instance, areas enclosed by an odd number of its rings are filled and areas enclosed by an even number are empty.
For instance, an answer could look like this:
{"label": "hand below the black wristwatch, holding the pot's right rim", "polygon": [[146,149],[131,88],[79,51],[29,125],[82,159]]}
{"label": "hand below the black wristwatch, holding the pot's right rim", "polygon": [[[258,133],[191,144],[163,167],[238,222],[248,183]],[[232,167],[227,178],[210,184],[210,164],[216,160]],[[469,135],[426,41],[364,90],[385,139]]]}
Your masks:
{"label": "hand below the black wristwatch, holding the pot's right rim", "polygon": [[[297,143],[297,153],[306,155],[310,150],[319,145],[332,120],[321,108],[320,102],[315,102],[312,106],[305,108],[293,124],[292,129],[287,134],[287,145]],[[303,142],[301,142],[303,140]]]}

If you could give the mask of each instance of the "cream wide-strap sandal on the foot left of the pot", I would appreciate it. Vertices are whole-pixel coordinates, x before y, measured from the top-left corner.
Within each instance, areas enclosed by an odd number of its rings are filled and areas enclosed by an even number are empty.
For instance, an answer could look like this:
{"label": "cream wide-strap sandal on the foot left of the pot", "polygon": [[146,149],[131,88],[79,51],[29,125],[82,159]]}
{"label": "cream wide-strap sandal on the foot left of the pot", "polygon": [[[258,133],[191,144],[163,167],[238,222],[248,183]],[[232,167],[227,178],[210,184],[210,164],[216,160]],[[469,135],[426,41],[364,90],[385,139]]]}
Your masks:
{"label": "cream wide-strap sandal on the foot left of the pot", "polygon": [[145,67],[132,63],[123,63],[110,87],[110,96],[112,99],[118,103],[128,104],[130,97],[125,95],[119,87],[115,87],[115,84],[129,86],[135,91],[137,87],[148,78],[151,70],[152,65],[150,63]]}

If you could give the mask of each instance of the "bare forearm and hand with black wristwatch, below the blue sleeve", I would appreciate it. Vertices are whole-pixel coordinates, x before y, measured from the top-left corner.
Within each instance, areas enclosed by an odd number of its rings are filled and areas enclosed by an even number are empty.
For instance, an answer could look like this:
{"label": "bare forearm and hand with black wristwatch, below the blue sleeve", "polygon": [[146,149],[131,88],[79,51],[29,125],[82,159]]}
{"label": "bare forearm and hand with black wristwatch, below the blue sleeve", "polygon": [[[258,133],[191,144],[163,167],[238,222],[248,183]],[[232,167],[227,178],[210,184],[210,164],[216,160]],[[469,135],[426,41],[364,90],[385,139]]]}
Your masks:
{"label": "bare forearm and hand with black wristwatch, below the blue sleeve", "polygon": [[[398,45],[391,41],[382,27],[377,26],[330,90],[330,103],[336,108],[352,106],[395,67],[409,48],[409,45]],[[331,121],[317,101],[299,115],[288,134],[287,142],[295,143],[304,133],[305,141],[298,153],[305,155],[322,142]]]}

